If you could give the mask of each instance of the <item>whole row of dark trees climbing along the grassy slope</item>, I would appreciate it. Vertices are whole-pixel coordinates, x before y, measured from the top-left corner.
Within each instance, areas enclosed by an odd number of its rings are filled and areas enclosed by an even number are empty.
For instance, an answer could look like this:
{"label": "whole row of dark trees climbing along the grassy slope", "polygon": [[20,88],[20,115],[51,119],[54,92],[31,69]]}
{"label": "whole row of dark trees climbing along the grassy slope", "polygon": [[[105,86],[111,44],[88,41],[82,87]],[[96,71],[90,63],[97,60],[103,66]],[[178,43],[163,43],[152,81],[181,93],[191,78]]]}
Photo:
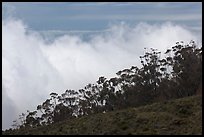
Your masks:
{"label": "whole row of dark trees climbing along the grassy slope", "polygon": [[[51,93],[37,110],[22,113],[15,128],[38,127],[65,119],[137,107],[156,101],[196,94],[202,83],[202,47],[194,41],[177,42],[161,58],[157,49],[140,56],[142,67],[132,66],[117,72],[117,77],[100,77],[78,91]],[[15,121],[16,122],[16,121]]]}

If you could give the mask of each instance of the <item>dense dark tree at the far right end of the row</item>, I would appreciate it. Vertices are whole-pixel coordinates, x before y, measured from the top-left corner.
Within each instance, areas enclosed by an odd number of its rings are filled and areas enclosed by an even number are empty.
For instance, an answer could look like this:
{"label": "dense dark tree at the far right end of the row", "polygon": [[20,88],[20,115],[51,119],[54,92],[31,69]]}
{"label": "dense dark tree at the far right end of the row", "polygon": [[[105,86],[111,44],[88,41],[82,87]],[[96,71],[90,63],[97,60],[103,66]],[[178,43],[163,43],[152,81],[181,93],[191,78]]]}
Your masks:
{"label": "dense dark tree at the far right end of the row", "polygon": [[202,48],[194,41],[173,47],[173,76],[178,83],[178,97],[195,95],[202,81]]}

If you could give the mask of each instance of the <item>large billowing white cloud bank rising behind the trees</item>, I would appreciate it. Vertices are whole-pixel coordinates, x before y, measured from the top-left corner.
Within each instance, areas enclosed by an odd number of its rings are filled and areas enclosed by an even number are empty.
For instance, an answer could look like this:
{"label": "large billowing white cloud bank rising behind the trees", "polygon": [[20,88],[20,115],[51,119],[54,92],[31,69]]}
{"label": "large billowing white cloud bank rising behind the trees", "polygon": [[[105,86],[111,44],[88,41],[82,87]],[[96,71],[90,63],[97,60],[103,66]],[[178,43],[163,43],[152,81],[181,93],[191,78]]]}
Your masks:
{"label": "large billowing white cloud bank rising behind the trees", "polygon": [[120,23],[108,30],[87,41],[63,34],[47,43],[21,20],[2,20],[3,129],[22,112],[36,109],[53,91],[77,90],[99,76],[113,77],[121,69],[139,65],[144,47],[164,51],[177,41],[200,41],[172,23]]}

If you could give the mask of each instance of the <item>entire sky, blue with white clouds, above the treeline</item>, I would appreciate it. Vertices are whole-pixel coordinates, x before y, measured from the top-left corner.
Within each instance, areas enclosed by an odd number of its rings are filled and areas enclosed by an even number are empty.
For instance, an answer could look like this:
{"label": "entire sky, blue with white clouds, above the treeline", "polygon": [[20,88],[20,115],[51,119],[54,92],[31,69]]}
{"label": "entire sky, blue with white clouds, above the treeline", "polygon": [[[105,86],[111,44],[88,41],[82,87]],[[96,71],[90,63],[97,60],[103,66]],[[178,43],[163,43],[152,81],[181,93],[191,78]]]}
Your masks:
{"label": "entire sky, blue with white clouds, above the treeline", "polygon": [[144,48],[202,43],[200,2],[3,2],[2,129],[51,92],[140,66]]}

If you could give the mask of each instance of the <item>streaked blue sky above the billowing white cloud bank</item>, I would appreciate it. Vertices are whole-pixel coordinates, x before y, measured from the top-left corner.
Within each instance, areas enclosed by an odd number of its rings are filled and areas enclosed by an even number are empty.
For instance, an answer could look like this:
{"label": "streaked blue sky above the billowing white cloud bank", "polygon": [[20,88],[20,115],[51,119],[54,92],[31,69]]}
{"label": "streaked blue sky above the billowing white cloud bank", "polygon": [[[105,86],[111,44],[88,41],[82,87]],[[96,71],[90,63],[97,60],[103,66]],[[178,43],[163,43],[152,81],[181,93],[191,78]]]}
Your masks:
{"label": "streaked blue sky above the billowing white cloud bank", "polygon": [[199,30],[201,2],[13,2],[3,3],[33,30],[102,30],[121,21],[172,21]]}

